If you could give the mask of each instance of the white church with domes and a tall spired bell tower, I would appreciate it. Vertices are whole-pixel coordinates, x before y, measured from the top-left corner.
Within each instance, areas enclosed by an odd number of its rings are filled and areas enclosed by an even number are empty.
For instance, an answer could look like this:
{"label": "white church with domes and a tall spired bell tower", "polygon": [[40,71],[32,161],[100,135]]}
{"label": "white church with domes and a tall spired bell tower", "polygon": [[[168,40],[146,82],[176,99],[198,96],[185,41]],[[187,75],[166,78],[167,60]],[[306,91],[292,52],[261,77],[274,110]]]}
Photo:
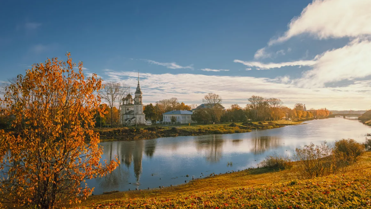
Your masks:
{"label": "white church with domes and a tall spired bell tower", "polygon": [[[139,74],[138,74],[138,86],[135,91],[135,97],[132,98],[130,92],[122,99],[120,121],[122,125],[151,125],[151,120],[145,120],[145,114],[143,113],[143,102],[142,102],[142,91],[139,86]],[[134,102],[134,103],[133,103]]]}

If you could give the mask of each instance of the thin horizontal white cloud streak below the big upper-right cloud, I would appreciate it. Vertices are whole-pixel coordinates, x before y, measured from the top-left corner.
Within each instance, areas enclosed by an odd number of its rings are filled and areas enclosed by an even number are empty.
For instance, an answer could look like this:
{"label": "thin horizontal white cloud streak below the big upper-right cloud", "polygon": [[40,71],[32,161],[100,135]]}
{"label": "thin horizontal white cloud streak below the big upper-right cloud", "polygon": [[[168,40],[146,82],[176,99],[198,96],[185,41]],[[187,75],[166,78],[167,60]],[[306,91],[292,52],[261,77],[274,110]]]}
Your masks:
{"label": "thin horizontal white cloud streak below the big upper-right cloud", "polygon": [[258,70],[267,70],[272,68],[281,68],[285,66],[311,66],[316,63],[315,60],[299,60],[293,62],[281,62],[281,63],[262,63],[262,62],[247,62],[235,59],[233,62],[242,63],[249,67],[256,67]]}

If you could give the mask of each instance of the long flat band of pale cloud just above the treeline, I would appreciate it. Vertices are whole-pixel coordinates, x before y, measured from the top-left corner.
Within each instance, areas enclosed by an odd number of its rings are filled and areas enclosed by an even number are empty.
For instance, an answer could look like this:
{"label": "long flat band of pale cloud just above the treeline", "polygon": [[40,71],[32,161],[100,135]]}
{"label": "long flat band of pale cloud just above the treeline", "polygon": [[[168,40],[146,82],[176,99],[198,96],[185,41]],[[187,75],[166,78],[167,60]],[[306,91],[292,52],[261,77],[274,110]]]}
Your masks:
{"label": "long flat band of pale cloud just above the treeline", "polygon": [[[130,86],[137,85],[137,72],[104,71],[106,81],[125,81]],[[144,102],[177,97],[187,104],[200,104],[208,92],[215,92],[223,98],[223,104],[247,104],[252,95],[276,97],[285,105],[293,107],[297,102],[308,108],[339,108],[364,110],[371,103],[371,81],[337,88],[305,89],[278,79],[254,78],[250,76],[216,76],[197,74],[150,74],[141,73],[141,87]],[[288,78],[281,78],[288,81]],[[354,103],[354,101],[362,101]]]}

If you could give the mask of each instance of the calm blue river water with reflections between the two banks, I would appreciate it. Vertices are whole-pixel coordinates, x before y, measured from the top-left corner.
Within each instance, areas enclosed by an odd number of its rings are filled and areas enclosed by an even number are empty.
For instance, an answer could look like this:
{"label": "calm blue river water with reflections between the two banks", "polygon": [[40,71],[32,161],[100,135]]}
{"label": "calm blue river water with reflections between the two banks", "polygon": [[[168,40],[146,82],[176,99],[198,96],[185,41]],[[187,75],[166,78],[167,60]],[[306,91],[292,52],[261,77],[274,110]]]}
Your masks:
{"label": "calm blue river water with reflections between the two banks", "polygon": [[292,156],[296,147],[311,142],[333,144],[342,138],[363,142],[367,133],[371,133],[371,128],[357,120],[329,118],[250,133],[102,142],[102,160],[117,155],[121,165],[111,174],[87,183],[95,187],[96,195],[177,185],[192,177],[256,167],[274,153]]}

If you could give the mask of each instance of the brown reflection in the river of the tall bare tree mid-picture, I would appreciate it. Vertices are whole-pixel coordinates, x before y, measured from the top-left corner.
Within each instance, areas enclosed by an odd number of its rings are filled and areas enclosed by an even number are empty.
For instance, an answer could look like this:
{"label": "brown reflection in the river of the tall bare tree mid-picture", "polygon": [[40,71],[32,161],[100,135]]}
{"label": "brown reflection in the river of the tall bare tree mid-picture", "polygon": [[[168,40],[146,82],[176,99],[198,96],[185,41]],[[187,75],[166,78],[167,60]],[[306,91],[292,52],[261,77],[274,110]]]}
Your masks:
{"label": "brown reflection in the river of the tall bare tree mid-picture", "polygon": [[221,135],[207,135],[197,139],[196,141],[196,150],[198,152],[205,151],[206,160],[210,163],[217,163],[220,161],[223,151],[224,140]]}

